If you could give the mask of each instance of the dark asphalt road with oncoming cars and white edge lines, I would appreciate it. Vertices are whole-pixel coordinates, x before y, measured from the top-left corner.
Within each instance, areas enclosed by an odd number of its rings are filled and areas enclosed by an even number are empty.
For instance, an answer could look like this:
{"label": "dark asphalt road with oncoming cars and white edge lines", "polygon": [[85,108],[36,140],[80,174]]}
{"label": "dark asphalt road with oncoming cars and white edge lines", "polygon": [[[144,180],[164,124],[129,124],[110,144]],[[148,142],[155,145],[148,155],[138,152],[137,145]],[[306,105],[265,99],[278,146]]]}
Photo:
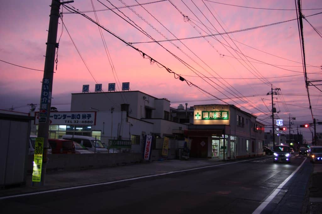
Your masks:
{"label": "dark asphalt road with oncoming cars and white edge lines", "polygon": [[312,172],[305,158],[293,156],[290,164],[273,163],[272,156],[218,162],[167,175],[9,198],[0,201],[0,212],[300,213]]}

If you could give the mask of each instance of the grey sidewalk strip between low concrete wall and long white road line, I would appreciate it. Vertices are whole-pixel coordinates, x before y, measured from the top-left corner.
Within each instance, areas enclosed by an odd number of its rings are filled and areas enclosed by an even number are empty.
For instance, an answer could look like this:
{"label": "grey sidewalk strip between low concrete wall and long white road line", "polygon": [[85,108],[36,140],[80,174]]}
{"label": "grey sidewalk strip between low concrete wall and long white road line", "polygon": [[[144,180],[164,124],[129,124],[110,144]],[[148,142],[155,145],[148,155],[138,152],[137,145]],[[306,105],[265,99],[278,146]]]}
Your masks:
{"label": "grey sidewalk strip between low concrete wall and long white road line", "polygon": [[171,159],[150,163],[86,169],[80,171],[47,172],[45,176],[45,185],[40,187],[32,186],[32,175],[28,174],[25,186],[0,190],[0,197],[42,192],[89,184],[99,184],[147,175],[156,175],[196,167],[211,166],[215,165],[216,163],[218,164],[220,161],[221,160],[219,159]]}

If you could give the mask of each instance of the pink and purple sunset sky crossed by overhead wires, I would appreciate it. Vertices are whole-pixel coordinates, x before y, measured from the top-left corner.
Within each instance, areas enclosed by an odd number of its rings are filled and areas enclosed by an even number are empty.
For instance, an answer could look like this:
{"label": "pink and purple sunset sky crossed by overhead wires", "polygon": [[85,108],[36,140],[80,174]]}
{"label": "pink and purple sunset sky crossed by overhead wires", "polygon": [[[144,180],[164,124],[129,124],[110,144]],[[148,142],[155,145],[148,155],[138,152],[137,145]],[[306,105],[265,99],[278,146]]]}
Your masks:
{"label": "pink and purple sunset sky crossed by overhead wires", "polygon": [[[322,1],[301,2],[307,81],[315,81],[308,92],[297,1],[75,0],[66,6],[93,21],[97,17],[109,32],[103,30],[101,37],[96,24],[61,6],[52,106],[70,110],[71,93],[80,93],[84,84],[93,92],[96,83],[104,91],[108,83],[117,83],[119,91],[122,82],[130,82],[130,90],[167,98],[175,108],[185,103],[235,105],[258,116],[269,132],[267,93],[280,88],[274,103],[287,127],[289,117],[296,117],[292,127],[312,123],[312,114],[322,122],[322,82],[317,82],[322,80]],[[51,0],[2,1],[0,109],[29,112],[27,104],[39,105],[43,72],[36,70],[44,68],[50,4]],[[292,130],[296,134],[296,128]],[[309,129],[299,132],[311,142]]]}

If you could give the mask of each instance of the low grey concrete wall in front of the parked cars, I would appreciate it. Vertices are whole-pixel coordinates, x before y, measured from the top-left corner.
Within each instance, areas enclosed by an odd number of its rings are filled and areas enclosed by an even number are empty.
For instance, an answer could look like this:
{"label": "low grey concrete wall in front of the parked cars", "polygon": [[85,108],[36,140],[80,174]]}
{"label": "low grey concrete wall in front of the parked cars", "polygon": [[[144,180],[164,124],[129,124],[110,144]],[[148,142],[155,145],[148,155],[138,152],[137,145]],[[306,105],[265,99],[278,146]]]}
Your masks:
{"label": "low grey concrete wall in front of the parked cars", "polygon": [[[140,163],[141,153],[100,153],[100,154],[50,154],[46,171],[73,171],[81,169],[115,167]],[[28,155],[26,170],[32,173],[33,155]]]}

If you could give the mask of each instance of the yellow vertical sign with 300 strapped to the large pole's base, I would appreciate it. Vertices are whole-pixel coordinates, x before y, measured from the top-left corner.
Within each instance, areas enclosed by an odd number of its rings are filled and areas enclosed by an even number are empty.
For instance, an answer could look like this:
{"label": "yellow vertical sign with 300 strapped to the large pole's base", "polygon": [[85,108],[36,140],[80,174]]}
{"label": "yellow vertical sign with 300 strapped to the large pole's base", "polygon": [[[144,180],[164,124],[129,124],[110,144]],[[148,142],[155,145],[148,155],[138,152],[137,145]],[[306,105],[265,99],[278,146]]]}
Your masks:
{"label": "yellow vertical sign with 300 strapped to the large pole's base", "polygon": [[33,156],[33,182],[40,182],[41,168],[43,165],[43,137],[37,137],[35,141],[35,153]]}

